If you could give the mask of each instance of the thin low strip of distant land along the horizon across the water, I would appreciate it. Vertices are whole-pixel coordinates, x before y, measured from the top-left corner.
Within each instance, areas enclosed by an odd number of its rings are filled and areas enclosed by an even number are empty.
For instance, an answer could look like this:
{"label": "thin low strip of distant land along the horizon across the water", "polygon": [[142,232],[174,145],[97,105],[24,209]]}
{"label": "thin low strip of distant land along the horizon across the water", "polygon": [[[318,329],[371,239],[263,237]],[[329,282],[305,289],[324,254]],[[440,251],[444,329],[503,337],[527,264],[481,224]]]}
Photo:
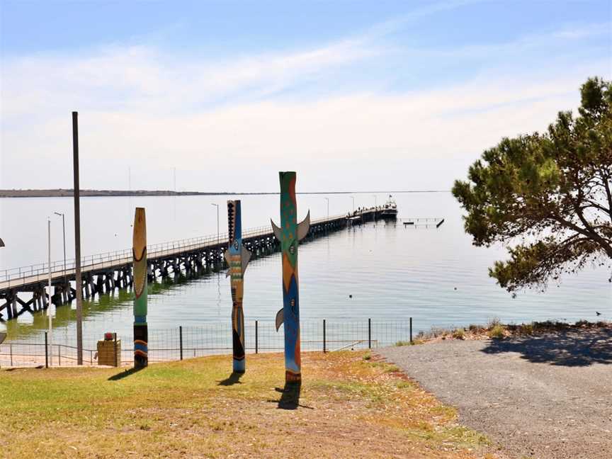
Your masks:
{"label": "thin low strip of distant land along the horizon across the water", "polygon": [[[397,191],[302,191],[296,194],[356,194],[356,193],[447,193],[448,190],[397,190]],[[278,195],[274,193],[237,193],[234,191],[170,191],[170,190],[81,190],[81,197],[100,196],[215,196],[215,195]],[[67,198],[72,188],[49,190],[0,190],[0,198]]]}

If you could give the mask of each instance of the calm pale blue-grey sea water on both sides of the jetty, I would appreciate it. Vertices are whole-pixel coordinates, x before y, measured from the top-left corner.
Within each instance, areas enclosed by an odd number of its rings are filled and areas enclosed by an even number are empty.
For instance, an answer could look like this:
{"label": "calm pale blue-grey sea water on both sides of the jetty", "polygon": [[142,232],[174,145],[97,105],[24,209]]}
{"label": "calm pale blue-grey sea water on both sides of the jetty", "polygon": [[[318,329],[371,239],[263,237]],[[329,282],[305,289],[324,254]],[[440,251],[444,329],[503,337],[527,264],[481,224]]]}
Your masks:
{"label": "calm pale blue-grey sea water on both sides of the jetty", "polygon": [[[298,183],[299,186],[299,183]],[[355,194],[355,205],[373,205],[371,194]],[[378,203],[385,200],[377,195]],[[278,196],[242,196],[243,227],[278,222]],[[463,232],[461,210],[450,193],[406,193],[395,196],[399,217],[444,217],[439,228],[368,223],[315,239],[300,246],[300,313],[302,319],[331,321],[405,319],[416,329],[483,323],[492,317],[503,322],[596,319],[595,311],[611,318],[612,289],[605,269],[587,268],[566,276],[545,293],[527,291],[512,298],[488,277],[487,267],[504,258],[501,248],[479,249]],[[215,234],[220,204],[220,229],[225,232],[226,196],[181,198],[84,198],[81,202],[83,254],[130,246],[133,208],[147,209],[149,244]],[[353,206],[348,195],[330,195],[330,215]],[[310,208],[312,217],[327,215],[320,195],[298,196],[300,217]],[[0,270],[46,260],[47,215],[66,212],[69,257],[72,200],[69,198],[0,199]],[[52,220],[52,258],[62,258],[61,218]],[[282,304],[280,254],[257,259],[245,278],[246,320],[273,320]],[[348,295],[352,295],[352,298]],[[207,322],[227,322],[231,310],[229,279],[211,273],[179,284],[154,285],[149,296],[149,329],[167,329]],[[104,331],[130,336],[130,293],[115,293],[85,305],[84,336],[94,343]],[[55,341],[74,342],[74,310],[51,310]],[[0,324],[13,339],[40,334],[45,314],[23,314]]]}

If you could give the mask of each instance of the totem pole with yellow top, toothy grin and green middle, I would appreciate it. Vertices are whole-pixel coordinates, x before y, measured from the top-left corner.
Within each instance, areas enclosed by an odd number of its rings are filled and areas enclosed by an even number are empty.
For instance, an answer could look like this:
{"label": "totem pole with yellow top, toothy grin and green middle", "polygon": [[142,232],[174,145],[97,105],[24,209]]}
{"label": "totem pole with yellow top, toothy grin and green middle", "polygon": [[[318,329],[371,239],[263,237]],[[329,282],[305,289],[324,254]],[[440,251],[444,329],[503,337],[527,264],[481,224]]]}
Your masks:
{"label": "totem pole with yellow top, toothy grin and green middle", "polygon": [[134,368],[149,363],[147,342],[147,219],[144,208],[136,208],[134,216]]}

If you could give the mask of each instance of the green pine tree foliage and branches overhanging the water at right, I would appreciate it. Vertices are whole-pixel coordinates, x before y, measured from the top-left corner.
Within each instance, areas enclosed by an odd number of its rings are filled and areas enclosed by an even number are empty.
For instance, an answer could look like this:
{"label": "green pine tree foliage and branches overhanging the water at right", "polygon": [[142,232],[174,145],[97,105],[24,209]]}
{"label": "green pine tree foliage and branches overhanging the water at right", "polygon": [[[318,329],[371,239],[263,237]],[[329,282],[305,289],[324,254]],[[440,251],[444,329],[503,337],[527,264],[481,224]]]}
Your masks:
{"label": "green pine tree foliage and branches overhanging the water at right", "polygon": [[546,132],[504,138],[470,166],[453,195],[476,246],[504,244],[489,276],[509,291],[612,259],[612,83],[590,78],[578,115]]}

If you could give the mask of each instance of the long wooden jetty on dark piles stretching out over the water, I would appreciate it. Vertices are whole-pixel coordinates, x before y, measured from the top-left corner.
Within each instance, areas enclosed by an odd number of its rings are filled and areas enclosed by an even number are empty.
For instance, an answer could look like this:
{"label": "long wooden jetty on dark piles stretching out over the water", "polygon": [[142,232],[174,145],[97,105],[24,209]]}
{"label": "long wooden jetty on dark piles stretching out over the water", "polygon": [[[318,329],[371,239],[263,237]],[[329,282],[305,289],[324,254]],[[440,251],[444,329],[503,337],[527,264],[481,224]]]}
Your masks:
{"label": "long wooden jetty on dark piles stretching out over the water", "polygon": [[[359,221],[382,218],[382,208],[369,208],[346,215],[312,220],[308,238],[319,237],[349,225],[351,217]],[[357,215],[358,214],[358,215]],[[278,250],[278,241],[270,226],[248,229],[243,232],[242,243],[254,257]],[[227,249],[227,233],[208,237],[182,239],[154,244],[147,247],[149,280],[179,276],[181,273],[219,269],[225,266],[223,254]],[[111,293],[116,288],[132,285],[132,249],[86,256],[81,259],[81,292],[86,298]],[[49,265],[38,265],[0,271],[0,321],[15,319],[24,312],[46,310],[50,302],[65,305],[76,298],[74,260],[51,263],[53,293],[48,297]]]}

